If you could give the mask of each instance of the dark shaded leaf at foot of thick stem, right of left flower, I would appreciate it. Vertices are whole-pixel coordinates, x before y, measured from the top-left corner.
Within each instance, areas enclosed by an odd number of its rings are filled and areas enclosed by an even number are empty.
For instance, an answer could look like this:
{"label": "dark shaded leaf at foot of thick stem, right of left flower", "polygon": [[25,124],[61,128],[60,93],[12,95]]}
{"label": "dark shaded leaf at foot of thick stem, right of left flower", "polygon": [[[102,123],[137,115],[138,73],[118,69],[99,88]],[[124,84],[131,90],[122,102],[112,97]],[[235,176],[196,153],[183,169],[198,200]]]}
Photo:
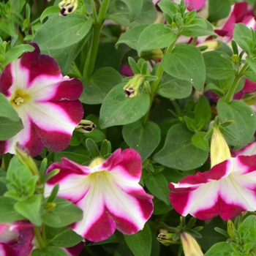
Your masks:
{"label": "dark shaded leaf at foot of thick stem, right of left flower", "polygon": [[99,104],[114,86],[121,83],[122,77],[112,67],[103,67],[98,69],[89,80],[81,78],[81,81],[83,94],[80,96],[80,101],[86,104]]}

